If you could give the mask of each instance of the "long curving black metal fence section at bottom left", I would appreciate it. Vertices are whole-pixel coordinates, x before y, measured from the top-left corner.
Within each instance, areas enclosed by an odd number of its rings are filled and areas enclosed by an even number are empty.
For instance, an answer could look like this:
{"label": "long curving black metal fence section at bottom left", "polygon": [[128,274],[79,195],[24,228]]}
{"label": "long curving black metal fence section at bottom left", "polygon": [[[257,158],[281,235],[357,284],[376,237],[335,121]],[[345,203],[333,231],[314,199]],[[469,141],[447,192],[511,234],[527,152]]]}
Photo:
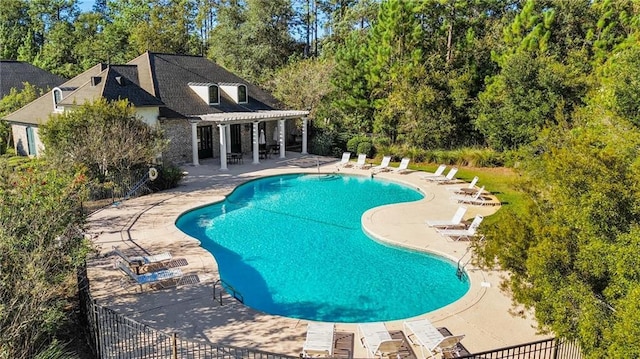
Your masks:
{"label": "long curving black metal fence section at bottom left", "polygon": [[297,356],[182,339],[105,308],[91,297],[86,267],[78,270],[80,320],[97,359],[299,359]]}

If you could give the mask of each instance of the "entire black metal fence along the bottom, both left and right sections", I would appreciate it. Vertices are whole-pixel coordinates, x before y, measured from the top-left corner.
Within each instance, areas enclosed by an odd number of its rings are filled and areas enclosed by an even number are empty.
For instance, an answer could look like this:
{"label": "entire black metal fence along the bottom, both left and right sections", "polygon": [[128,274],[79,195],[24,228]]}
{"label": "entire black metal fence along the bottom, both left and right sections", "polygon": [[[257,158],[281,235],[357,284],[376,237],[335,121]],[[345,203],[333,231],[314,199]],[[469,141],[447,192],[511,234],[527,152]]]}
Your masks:
{"label": "entire black metal fence along the bottom, both left and right sections", "polygon": [[[86,267],[78,270],[82,326],[97,359],[299,359],[297,356],[212,345],[179,338],[136,322],[97,304],[91,297]],[[462,355],[461,359],[582,359],[574,343],[551,338]]]}

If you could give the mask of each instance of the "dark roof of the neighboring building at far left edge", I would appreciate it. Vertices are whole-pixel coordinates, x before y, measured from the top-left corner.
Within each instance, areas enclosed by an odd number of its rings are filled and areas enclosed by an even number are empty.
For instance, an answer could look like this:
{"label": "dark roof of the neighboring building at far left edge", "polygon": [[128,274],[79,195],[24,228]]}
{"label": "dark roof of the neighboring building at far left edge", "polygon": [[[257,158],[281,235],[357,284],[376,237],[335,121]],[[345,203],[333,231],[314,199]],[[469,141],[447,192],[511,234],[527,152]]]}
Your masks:
{"label": "dark roof of the neighboring building at far left edge", "polygon": [[66,79],[35,67],[28,62],[0,60],[0,98],[9,94],[12,88],[20,91],[24,82],[43,90],[54,88]]}

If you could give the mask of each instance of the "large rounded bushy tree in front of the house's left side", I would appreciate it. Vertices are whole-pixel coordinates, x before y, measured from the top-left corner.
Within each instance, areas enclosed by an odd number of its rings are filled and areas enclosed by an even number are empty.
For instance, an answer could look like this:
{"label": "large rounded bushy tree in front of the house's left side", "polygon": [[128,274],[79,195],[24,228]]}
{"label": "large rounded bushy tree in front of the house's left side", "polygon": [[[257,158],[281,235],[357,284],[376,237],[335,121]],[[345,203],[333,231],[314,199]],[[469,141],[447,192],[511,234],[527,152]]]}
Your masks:
{"label": "large rounded bushy tree in front of the house's left side", "polygon": [[101,182],[147,166],[165,146],[161,132],[136,117],[126,100],[100,99],[53,115],[40,135],[49,161],[85,167],[89,178]]}

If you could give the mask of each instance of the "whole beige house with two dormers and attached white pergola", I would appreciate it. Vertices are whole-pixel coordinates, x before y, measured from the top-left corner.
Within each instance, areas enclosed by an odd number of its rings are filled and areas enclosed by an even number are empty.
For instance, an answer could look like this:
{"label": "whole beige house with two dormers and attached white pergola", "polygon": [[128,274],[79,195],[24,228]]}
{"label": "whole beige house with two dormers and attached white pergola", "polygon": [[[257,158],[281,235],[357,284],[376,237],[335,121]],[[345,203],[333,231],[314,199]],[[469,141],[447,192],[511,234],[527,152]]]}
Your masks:
{"label": "whole beige house with two dormers and attached white pergola", "polygon": [[287,134],[298,133],[307,152],[308,111],[281,109],[268,92],[202,56],[153,52],[125,65],[97,64],[7,115],[16,151],[38,155],[38,125],[99,97],[128,99],[147,124],[160,126],[169,139],[165,162],[198,165],[200,159],[219,158],[225,170],[229,159],[251,154],[257,164],[267,145],[284,158],[292,142]]}

